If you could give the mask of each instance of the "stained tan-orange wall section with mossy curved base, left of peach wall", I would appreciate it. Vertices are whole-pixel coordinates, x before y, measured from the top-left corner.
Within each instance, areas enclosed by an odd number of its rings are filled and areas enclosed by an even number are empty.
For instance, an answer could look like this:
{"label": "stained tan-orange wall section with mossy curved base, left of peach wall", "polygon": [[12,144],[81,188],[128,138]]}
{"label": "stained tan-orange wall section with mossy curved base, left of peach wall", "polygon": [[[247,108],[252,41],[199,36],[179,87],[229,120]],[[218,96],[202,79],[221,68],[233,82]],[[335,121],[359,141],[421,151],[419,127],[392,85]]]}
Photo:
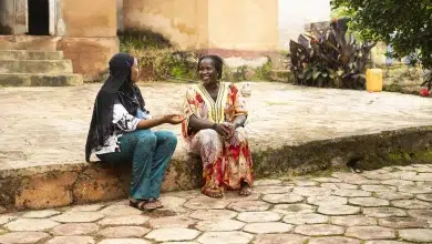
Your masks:
{"label": "stained tan-orange wall section with mossy curved base, left of peach wall", "polygon": [[151,30],[179,49],[207,42],[207,0],[123,0],[124,29]]}

